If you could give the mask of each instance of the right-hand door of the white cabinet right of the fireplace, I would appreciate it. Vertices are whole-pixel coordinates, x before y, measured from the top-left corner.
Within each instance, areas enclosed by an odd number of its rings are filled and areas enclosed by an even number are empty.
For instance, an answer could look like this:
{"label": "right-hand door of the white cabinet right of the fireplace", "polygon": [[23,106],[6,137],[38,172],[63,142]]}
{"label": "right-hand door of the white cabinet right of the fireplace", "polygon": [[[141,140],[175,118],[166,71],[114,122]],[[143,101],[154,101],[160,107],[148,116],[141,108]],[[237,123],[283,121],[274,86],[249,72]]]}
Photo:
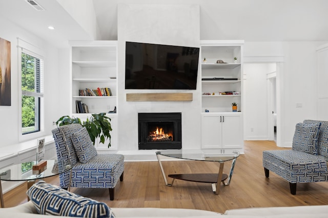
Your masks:
{"label": "right-hand door of the white cabinet right of the fireplace", "polygon": [[222,120],[222,148],[242,148],[242,127],[240,116],[224,115]]}

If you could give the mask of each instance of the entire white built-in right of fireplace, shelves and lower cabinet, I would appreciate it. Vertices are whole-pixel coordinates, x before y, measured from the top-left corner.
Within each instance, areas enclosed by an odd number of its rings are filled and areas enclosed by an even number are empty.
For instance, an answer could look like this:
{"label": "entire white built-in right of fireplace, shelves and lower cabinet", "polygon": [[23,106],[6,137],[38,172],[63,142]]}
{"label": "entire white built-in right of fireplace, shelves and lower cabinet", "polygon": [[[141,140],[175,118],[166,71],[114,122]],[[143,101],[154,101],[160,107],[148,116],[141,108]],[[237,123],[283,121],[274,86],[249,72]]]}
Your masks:
{"label": "entire white built-in right of fireplace, shelves and lower cabinet", "polygon": [[[243,152],[243,41],[202,40],[200,47],[202,148]],[[232,111],[233,102],[237,112]]]}

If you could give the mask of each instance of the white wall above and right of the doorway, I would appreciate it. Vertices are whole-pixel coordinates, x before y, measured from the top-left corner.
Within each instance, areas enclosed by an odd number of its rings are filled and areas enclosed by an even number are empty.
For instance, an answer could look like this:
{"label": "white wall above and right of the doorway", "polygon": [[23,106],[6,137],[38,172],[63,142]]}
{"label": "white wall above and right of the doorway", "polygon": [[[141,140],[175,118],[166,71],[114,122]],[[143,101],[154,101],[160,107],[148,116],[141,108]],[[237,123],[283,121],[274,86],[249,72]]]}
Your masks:
{"label": "white wall above and right of the doorway", "polygon": [[[316,48],[324,42],[245,42],[245,59],[283,57],[277,75],[277,146],[291,147],[295,125],[316,119]],[[301,104],[297,108],[296,104]],[[260,120],[258,120],[260,122]]]}

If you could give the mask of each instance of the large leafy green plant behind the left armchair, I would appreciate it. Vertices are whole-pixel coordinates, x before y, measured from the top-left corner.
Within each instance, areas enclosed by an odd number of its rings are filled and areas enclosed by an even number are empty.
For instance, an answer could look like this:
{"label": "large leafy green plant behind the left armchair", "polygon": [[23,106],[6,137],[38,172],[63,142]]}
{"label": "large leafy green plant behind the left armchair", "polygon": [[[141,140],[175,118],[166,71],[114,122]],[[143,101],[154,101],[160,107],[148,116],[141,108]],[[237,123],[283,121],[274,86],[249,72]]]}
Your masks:
{"label": "large leafy green plant behind the left armchair", "polygon": [[68,115],[60,117],[56,125],[64,126],[69,124],[80,124],[83,127],[86,127],[90,135],[90,139],[93,144],[96,141],[97,137],[100,137],[100,142],[105,143],[105,139],[109,138],[108,148],[111,147],[111,118],[106,116],[106,113],[91,114],[91,118],[87,117],[87,120],[81,123],[80,118],[70,117]]}

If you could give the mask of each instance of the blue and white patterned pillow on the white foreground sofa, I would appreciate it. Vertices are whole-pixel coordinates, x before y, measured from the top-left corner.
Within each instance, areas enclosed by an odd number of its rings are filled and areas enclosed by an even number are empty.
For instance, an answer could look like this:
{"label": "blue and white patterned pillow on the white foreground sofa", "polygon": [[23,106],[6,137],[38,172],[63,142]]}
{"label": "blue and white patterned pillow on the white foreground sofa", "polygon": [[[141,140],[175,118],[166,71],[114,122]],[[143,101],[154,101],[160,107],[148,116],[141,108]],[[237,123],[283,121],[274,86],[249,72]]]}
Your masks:
{"label": "blue and white patterned pillow on the white foreground sofa", "polygon": [[39,181],[27,190],[39,214],[74,217],[115,217],[103,202],[85,198],[56,185]]}

